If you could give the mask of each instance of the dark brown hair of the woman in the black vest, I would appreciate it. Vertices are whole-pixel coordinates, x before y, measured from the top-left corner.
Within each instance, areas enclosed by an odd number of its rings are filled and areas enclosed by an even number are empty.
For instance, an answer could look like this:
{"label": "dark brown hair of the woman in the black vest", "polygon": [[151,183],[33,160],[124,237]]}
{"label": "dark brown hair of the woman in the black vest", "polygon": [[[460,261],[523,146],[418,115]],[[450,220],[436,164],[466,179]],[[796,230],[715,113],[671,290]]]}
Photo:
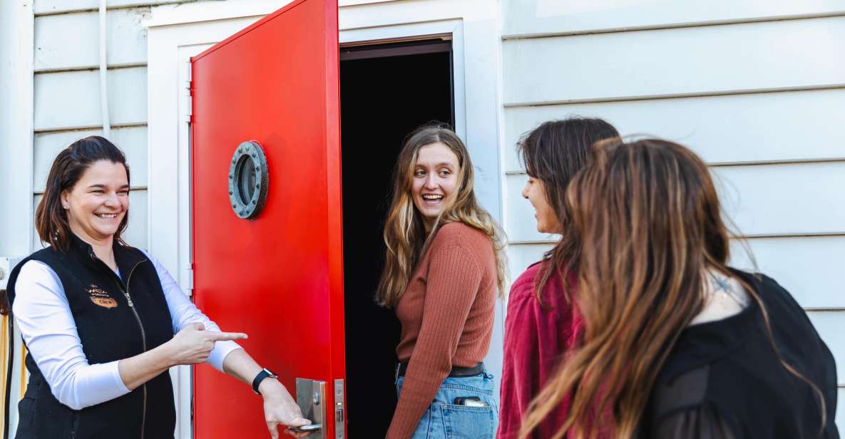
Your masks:
{"label": "dark brown hair of the woman in the black vest", "polygon": [[[72,232],[68,225],[68,213],[62,207],[62,193],[73,189],[88,167],[99,160],[123,165],[126,168],[126,181],[129,182],[126,156],[112,142],[100,136],[77,140],[58,153],[56,160],[53,160],[44,197],[35,209],[35,229],[38,230],[41,242],[63,252],[68,251]],[[121,234],[126,230],[128,220],[129,215],[124,215],[114,234],[114,240],[123,245],[126,245],[126,242],[121,238]]]}

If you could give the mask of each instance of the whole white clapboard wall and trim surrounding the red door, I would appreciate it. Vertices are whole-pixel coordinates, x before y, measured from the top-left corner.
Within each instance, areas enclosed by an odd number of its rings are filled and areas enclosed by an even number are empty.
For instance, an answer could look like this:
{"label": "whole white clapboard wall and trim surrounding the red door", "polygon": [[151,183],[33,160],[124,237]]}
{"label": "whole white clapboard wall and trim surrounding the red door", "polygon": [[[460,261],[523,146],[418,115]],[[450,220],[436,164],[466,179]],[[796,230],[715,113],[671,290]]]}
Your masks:
{"label": "whole white clapboard wall and trim surrounding the red door", "polygon": [[[133,176],[128,241],[152,249],[186,286],[180,62],[281,3],[182,3],[190,2],[109,0],[107,61],[112,140],[128,154]],[[0,257],[37,246],[32,212],[57,151],[101,133],[97,4],[0,2]],[[466,141],[481,169],[482,203],[512,241],[512,279],[553,239],[534,231],[519,196],[525,177],[516,139],[568,114],[605,117],[623,133],[687,144],[713,165],[756,263],[810,310],[845,383],[845,337],[837,331],[845,325],[845,0],[340,5],[347,41],[373,29],[386,35],[396,24],[461,22],[466,88],[456,98],[477,106],[462,115]],[[150,41],[148,26],[157,35]],[[749,267],[735,254],[738,266]],[[491,364],[501,355],[494,343]],[[178,377],[184,417],[188,375]],[[842,409],[837,419],[845,427]],[[180,437],[188,436],[181,423]]]}

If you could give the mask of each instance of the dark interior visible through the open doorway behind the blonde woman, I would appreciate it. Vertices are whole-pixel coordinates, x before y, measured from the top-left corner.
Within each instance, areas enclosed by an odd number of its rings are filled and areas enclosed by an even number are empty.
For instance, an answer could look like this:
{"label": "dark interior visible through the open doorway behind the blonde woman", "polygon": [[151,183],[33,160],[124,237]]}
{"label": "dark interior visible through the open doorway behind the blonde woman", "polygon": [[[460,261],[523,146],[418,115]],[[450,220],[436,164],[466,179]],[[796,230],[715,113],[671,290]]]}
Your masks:
{"label": "dark interior visible through the open doorway behind the blonde woman", "polygon": [[393,168],[426,122],[454,126],[450,41],[341,48],[346,407],[352,439],[384,437],[396,404],[400,324],[375,303]]}

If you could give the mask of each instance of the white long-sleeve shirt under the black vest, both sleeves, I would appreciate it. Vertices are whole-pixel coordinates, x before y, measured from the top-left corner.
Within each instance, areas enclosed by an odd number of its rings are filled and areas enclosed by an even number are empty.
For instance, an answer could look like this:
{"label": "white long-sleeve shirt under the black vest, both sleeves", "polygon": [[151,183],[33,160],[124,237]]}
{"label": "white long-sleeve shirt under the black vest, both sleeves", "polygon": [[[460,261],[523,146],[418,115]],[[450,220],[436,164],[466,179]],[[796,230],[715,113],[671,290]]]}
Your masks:
{"label": "white long-sleeve shirt under the black vest, both sleeves", "polygon": [[[150,253],[144,254],[155,266],[161,281],[173,333],[193,322],[203,323],[206,330],[220,331],[217,323],[188,300],[158,259]],[[59,402],[78,410],[129,393],[117,369],[117,360],[93,365],[88,363],[62,281],[52,268],[46,263],[29,261],[20,268],[14,286],[12,312],[15,322],[35,364]],[[233,341],[218,341],[207,361],[218,371],[223,371],[226,355],[240,348]]]}

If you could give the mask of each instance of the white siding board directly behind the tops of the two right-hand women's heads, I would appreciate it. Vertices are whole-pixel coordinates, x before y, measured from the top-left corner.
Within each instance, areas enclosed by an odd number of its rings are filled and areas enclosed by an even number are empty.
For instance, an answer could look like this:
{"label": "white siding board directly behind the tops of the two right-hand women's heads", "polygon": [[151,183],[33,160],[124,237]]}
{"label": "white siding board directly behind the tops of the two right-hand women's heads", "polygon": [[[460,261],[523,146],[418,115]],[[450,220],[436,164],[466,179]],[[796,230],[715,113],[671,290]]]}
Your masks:
{"label": "white siding board directly behind the tops of the two right-hand women's heads", "polygon": [[679,142],[708,163],[843,159],[845,111],[819,111],[842,106],[845,89],[506,108],[505,169],[521,169],[523,133],[570,115]]}

